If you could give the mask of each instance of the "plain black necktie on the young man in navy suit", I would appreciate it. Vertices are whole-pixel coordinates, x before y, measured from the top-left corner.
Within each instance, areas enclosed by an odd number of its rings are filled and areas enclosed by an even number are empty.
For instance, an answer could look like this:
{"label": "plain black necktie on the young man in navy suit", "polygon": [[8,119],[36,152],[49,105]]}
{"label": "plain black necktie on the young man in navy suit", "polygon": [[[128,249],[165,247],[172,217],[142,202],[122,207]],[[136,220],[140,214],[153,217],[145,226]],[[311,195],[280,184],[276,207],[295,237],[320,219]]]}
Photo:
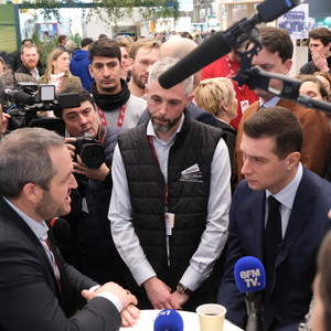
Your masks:
{"label": "plain black necktie on the young man in navy suit", "polygon": [[277,253],[282,241],[281,235],[281,216],[280,216],[280,202],[273,195],[268,197],[268,220],[265,229],[265,267],[267,276],[267,288],[270,291],[270,287],[274,280],[274,269]]}

